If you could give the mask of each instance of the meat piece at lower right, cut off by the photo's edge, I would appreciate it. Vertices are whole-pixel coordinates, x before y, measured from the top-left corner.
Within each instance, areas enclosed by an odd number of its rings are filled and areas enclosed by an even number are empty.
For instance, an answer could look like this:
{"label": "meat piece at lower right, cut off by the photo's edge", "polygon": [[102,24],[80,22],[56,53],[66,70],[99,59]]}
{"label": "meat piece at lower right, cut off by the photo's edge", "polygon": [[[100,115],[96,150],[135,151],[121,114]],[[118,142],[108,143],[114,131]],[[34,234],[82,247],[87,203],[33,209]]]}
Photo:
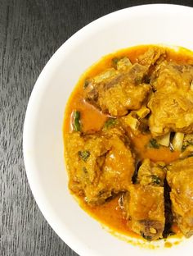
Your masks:
{"label": "meat piece at lower right, cut off by the photo's edge", "polygon": [[168,165],[167,181],[171,188],[173,217],[186,237],[193,235],[193,158]]}

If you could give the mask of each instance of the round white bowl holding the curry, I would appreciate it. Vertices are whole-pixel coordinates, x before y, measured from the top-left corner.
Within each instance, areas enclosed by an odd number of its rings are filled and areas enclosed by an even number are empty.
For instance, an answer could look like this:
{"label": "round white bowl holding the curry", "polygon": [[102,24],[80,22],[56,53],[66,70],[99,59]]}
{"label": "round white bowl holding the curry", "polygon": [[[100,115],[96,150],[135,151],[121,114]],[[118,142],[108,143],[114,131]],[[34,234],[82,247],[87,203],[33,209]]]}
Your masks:
{"label": "round white bowl holding the curry", "polygon": [[[29,99],[24,158],[29,185],[47,222],[80,255],[192,255],[192,239],[171,249],[144,249],[110,235],[68,190],[62,125],[79,76],[107,53],[146,43],[193,49],[193,8],[146,5],[116,11],[79,30],[44,67]],[[51,241],[52,242],[52,241]]]}

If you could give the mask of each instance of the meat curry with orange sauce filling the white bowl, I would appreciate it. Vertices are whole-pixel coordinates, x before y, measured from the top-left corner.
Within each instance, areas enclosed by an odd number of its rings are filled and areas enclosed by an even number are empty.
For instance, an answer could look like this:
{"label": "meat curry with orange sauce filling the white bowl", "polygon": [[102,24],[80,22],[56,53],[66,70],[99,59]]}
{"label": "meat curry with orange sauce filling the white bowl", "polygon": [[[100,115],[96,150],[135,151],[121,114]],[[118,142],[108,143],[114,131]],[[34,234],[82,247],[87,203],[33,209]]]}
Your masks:
{"label": "meat curry with orange sauce filling the white bowl", "polygon": [[193,54],[138,46],[103,57],[70,97],[70,191],[116,231],[193,235]]}

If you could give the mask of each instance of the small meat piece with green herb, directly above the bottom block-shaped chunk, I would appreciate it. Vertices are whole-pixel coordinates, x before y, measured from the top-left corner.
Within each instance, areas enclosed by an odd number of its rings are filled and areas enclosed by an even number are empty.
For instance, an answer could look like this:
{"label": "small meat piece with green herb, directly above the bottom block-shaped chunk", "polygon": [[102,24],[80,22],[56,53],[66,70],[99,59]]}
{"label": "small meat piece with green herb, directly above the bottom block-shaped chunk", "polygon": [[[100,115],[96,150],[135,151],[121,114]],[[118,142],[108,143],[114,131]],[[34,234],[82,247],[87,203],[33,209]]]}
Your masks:
{"label": "small meat piece with green herb, directly above the bottom block-shaped chunk", "polygon": [[141,185],[164,186],[166,169],[164,162],[150,162],[145,159],[138,170],[137,183]]}

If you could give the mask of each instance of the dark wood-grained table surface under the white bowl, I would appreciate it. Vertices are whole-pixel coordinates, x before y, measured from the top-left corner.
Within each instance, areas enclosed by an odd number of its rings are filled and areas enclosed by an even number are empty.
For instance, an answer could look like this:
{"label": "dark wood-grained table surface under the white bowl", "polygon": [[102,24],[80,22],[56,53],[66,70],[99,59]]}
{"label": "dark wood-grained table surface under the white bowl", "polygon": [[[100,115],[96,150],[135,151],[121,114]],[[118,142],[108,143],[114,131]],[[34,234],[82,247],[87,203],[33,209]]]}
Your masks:
{"label": "dark wood-grained table surface under the white bowl", "polygon": [[[190,1],[0,0],[0,255],[77,255],[43,218],[22,155],[29,96],[40,71],[74,32],[111,11]],[[189,28],[190,29],[190,28]]]}

